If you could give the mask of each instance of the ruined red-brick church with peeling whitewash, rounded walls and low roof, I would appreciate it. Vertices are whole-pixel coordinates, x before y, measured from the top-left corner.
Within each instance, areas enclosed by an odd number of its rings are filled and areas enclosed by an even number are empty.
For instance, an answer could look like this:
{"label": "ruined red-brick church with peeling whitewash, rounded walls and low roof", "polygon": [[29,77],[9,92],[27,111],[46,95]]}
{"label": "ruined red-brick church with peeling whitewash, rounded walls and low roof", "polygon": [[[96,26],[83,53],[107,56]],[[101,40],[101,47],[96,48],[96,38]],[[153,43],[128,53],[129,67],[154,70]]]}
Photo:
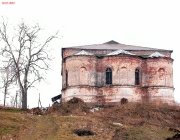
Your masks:
{"label": "ruined red-brick church with peeling whitewash, rounded walls and low roof", "polygon": [[109,41],[62,48],[62,102],[174,102],[172,50]]}

